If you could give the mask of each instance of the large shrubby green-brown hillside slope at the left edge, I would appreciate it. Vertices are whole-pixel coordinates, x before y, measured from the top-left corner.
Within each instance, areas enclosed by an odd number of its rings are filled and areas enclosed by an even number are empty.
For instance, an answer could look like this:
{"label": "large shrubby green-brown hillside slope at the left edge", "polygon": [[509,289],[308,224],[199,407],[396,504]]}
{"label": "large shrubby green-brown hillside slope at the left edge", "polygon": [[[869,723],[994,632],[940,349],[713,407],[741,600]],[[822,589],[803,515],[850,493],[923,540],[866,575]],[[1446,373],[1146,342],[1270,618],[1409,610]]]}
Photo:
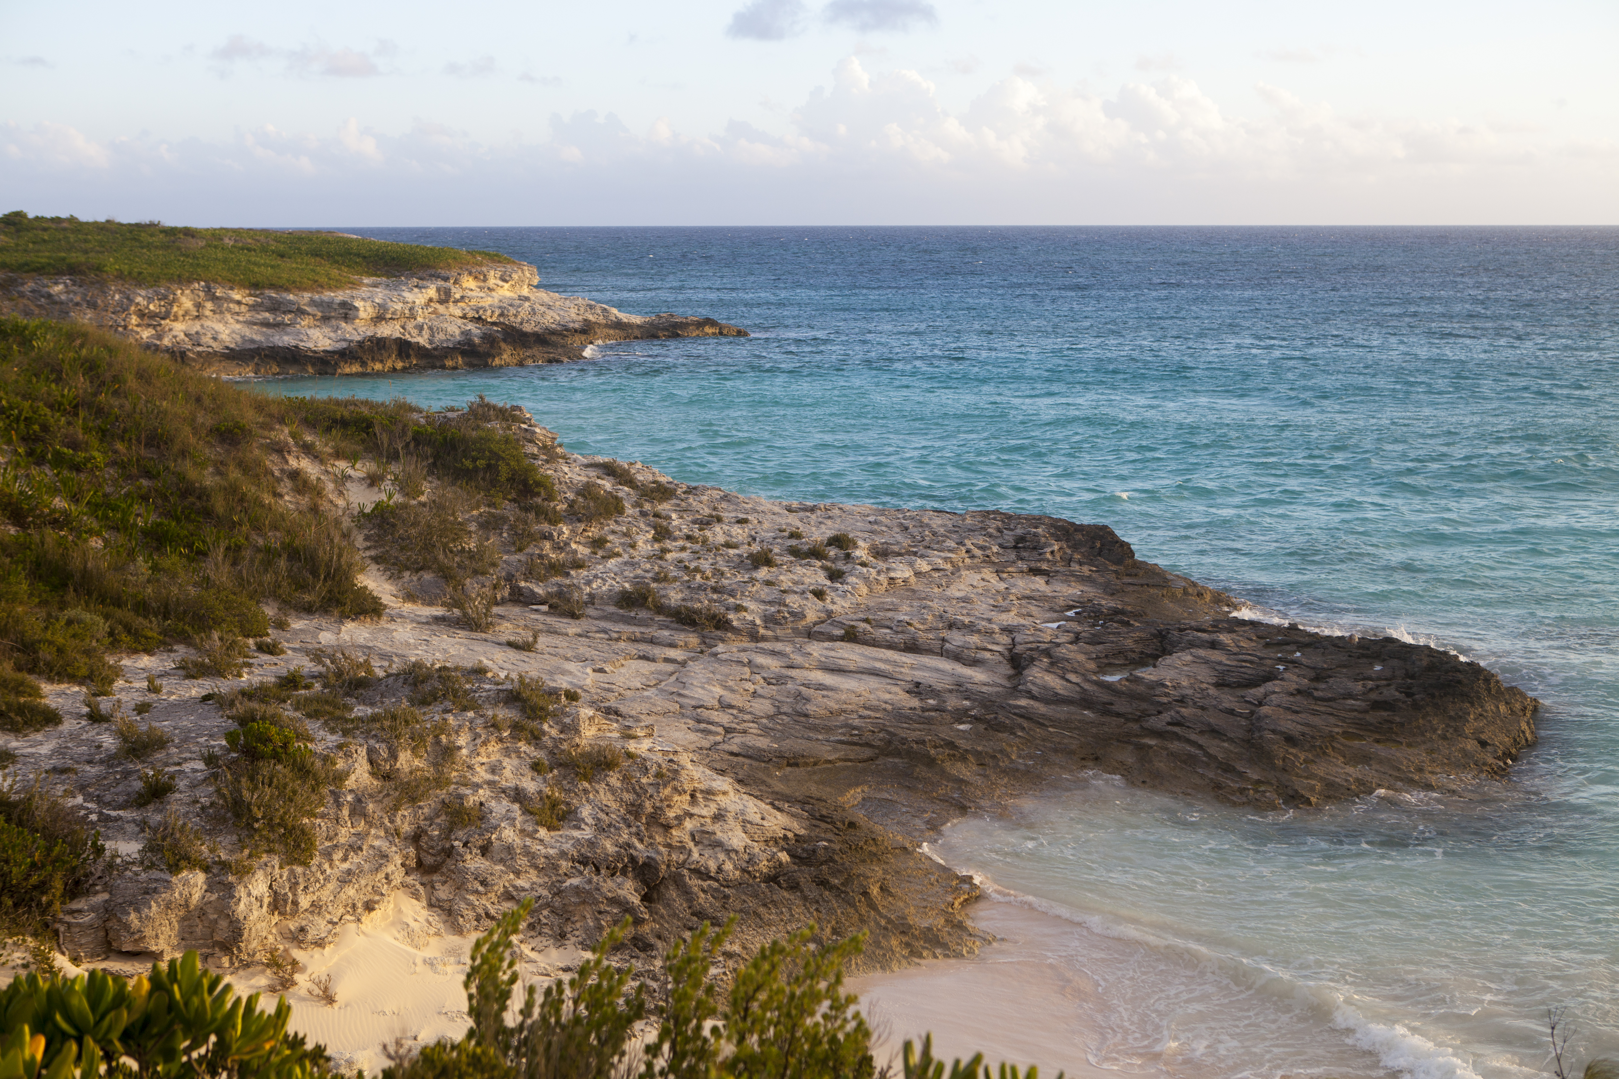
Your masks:
{"label": "large shrubby green-brown hillside slope at the left edge", "polygon": [[[108,650],[191,641],[198,673],[238,670],[241,637],[269,631],[262,599],[379,613],[342,519],[277,479],[288,432],[342,411],[0,319],[0,663],[110,692]],[[10,683],[0,697],[6,717],[28,699]]]}

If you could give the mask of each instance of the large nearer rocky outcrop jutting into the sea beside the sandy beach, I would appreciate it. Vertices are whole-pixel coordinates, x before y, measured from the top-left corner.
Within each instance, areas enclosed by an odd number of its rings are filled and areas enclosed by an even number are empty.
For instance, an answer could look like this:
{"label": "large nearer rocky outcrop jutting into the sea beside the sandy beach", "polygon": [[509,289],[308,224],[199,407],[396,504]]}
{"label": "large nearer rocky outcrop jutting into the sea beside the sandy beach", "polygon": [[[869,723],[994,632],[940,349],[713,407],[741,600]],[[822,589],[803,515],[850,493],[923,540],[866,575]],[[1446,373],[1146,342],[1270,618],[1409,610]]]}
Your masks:
{"label": "large nearer rocky outcrop jutting into the sea beside the sandy beach", "polygon": [[[325,945],[397,895],[445,933],[536,896],[536,948],[628,916],[630,946],[651,956],[737,914],[738,953],[816,922],[868,932],[861,969],[892,969],[984,940],[973,883],[920,844],[1056,776],[1308,807],[1465,793],[1535,739],[1536,702],[1477,663],[1235,618],[1239,600],[1138,560],[1106,526],[682,485],[565,453],[512,416],[559,500],[597,492],[625,511],[538,529],[486,511],[487,631],[447,611],[442,578],[384,571],[372,545],[380,620],[283,611],[285,654],[254,657],[244,679],[186,679],[185,650],[125,657],[100,707],[142,705],[170,734],[147,759],[79,718],[81,691],[52,688],[73,718],[10,739],[16,767],[70,783],[121,856],[58,924],[66,954],[136,966],[196,948],[240,966]],[[348,511],[384,498],[288,455]],[[351,718],[309,723],[346,772],[312,857],[241,861],[210,804],[238,726],[220,704],[359,663],[368,675],[327,679]],[[525,679],[554,694],[544,721],[513,707]],[[368,725],[406,704],[414,741]],[[139,806],[142,768],[178,789]],[[154,864],[164,814],[207,836],[209,867]]]}

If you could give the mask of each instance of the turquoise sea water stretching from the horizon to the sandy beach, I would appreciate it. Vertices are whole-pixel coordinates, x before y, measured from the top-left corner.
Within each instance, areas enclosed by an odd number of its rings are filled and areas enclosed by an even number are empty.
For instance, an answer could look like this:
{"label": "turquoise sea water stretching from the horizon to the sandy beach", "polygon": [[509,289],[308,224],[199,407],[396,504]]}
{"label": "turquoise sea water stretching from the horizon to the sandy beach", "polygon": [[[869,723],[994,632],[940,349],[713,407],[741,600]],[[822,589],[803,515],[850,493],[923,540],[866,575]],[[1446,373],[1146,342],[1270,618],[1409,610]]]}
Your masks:
{"label": "turquoise sea water stretching from the horizon to the sandy beach", "polygon": [[688,482],[1099,521],[1261,613],[1546,702],[1514,781],[1467,799],[1251,815],[1075,776],[952,828],[945,861],[1072,927],[1018,961],[1128,987],[1046,1051],[1517,1076],[1551,1005],[1619,1051],[1619,230],[350,231],[754,336],[277,390],[487,393]]}

